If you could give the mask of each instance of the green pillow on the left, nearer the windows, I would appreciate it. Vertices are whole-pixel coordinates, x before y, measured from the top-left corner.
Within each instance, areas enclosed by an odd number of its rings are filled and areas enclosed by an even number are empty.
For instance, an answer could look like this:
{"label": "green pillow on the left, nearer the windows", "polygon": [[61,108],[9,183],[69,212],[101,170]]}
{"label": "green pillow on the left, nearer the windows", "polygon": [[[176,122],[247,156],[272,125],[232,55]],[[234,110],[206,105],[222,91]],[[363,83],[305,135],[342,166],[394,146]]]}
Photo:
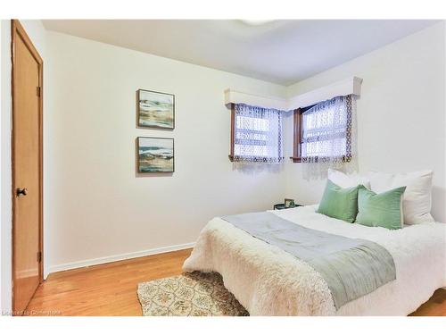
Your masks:
{"label": "green pillow on the left, nearer the windows", "polygon": [[354,188],[341,188],[333,181],[326,180],[326,190],[316,212],[346,222],[354,222],[356,214],[358,214],[360,186],[362,185]]}

